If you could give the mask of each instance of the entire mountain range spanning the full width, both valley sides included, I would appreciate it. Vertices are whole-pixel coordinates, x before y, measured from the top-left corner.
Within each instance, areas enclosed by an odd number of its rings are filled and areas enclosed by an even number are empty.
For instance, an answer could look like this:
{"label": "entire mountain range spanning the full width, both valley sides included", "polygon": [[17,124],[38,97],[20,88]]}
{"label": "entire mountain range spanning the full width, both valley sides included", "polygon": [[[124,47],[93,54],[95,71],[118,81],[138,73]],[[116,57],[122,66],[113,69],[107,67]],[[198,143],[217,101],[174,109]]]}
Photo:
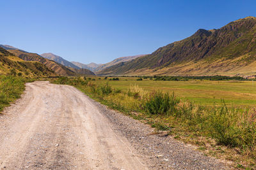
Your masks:
{"label": "entire mountain range spanning the full width, both valley sides included", "polygon": [[192,36],[148,55],[119,57],[106,64],[69,62],[53,53],[29,53],[0,45],[0,74],[77,75],[256,75],[256,18],[246,17],[220,29],[198,29]]}

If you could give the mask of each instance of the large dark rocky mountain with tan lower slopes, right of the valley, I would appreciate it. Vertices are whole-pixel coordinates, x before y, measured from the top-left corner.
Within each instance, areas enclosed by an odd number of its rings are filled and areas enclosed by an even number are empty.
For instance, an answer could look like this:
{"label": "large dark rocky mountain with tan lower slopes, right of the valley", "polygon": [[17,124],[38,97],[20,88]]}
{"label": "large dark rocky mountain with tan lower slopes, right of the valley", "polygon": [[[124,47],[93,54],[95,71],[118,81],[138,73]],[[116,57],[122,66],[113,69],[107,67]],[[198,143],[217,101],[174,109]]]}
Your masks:
{"label": "large dark rocky mountain with tan lower slopes, right of the valley", "polygon": [[256,18],[246,17],[220,29],[199,29],[189,38],[158,48],[101,75],[250,75],[256,74]]}

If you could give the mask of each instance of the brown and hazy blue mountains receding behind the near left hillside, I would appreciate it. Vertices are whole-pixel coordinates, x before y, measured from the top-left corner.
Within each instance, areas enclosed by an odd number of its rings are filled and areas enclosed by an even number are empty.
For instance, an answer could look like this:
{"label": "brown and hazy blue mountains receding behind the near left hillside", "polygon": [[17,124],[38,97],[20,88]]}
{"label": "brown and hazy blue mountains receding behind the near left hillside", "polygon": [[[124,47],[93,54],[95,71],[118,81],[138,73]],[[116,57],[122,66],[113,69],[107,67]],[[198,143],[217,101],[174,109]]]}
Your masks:
{"label": "brown and hazy blue mountains receding behind the near left hillside", "polygon": [[[42,53],[41,55],[38,55],[37,53],[29,53],[25,50],[21,50],[10,45],[0,45],[0,48],[7,50],[6,52],[9,52],[15,56],[15,60],[39,62],[43,64],[44,67],[47,67],[47,69],[49,69],[49,71],[52,73],[51,76],[77,76],[79,74],[95,75],[92,71],[101,71],[102,69],[118,64],[119,62],[126,62],[143,56],[135,55],[129,57],[119,57],[118,59],[115,59],[106,64],[95,64],[93,62],[90,64],[82,64],[80,62],[69,62],[68,60],[65,60],[53,53]],[[19,59],[17,57],[19,57]]]}

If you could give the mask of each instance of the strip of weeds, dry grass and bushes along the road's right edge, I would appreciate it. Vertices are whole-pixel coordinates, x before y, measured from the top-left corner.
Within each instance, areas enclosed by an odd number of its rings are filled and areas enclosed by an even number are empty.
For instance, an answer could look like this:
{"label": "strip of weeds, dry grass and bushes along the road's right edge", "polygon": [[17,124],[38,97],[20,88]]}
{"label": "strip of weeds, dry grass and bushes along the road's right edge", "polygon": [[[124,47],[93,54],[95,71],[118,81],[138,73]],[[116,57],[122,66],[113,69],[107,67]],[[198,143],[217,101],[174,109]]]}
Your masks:
{"label": "strip of weeds, dry grass and bushes along the road's right edge", "polygon": [[255,168],[256,108],[227,106],[224,99],[204,106],[180,99],[173,92],[149,91],[134,84],[120,90],[104,79],[95,83],[91,78],[61,77],[52,83],[73,85],[109,108],[155,127],[156,133],[164,131],[197,145],[207,155],[232,160],[237,167]]}

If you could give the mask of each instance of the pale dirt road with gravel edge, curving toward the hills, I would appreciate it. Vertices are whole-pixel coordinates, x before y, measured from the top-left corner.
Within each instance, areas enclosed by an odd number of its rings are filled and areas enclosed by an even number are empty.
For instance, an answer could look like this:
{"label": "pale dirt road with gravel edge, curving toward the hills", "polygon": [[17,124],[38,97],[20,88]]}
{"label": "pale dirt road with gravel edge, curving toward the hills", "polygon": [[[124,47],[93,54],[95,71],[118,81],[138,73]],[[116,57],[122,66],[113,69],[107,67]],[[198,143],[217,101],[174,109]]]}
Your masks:
{"label": "pale dirt road with gravel edge, curving toward the hills", "polygon": [[3,113],[1,169],[225,169],[68,85],[27,83]]}

